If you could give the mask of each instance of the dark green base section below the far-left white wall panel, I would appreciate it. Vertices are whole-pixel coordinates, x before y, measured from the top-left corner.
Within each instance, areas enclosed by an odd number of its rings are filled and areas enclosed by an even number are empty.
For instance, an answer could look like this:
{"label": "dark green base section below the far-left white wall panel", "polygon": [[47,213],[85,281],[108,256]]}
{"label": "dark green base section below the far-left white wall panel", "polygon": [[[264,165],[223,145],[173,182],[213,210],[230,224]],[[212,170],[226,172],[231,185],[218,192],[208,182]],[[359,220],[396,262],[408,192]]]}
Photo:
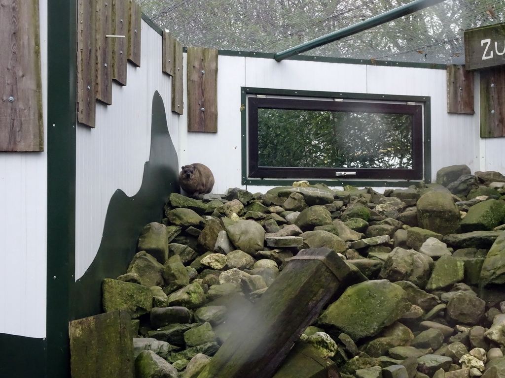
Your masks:
{"label": "dark green base section below the far-left white wall panel", "polygon": [[0,333],[0,376],[43,378],[46,340]]}

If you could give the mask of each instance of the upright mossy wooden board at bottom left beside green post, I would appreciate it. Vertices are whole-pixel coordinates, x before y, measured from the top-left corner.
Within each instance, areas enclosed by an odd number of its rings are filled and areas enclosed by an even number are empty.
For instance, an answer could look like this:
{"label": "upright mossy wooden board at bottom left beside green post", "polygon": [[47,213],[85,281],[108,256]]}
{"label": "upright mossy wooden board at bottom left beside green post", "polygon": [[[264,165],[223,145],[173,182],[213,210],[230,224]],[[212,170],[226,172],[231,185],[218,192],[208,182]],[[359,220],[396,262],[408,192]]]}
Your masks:
{"label": "upright mossy wooden board at bottom left beside green post", "polygon": [[72,378],[134,378],[128,312],[113,311],[69,323]]}

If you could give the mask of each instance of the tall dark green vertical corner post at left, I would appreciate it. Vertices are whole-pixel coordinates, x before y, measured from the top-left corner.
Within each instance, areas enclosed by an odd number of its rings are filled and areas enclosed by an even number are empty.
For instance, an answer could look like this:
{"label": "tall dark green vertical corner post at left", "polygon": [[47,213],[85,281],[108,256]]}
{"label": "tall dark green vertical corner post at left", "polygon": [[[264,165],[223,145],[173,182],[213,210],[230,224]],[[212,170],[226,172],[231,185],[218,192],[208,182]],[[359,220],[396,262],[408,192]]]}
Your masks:
{"label": "tall dark green vertical corner post at left", "polygon": [[48,0],[47,7],[46,375],[66,378],[75,271],[77,1]]}

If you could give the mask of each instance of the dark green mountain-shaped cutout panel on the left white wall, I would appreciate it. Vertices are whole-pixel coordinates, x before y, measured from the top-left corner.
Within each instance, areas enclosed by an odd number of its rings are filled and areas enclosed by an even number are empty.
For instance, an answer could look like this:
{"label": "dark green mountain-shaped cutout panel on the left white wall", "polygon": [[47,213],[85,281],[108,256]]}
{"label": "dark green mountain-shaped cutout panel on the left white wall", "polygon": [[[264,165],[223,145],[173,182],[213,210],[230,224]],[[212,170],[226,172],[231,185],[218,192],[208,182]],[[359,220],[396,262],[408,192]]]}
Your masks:
{"label": "dark green mountain-shaped cutout panel on the left white wall", "polygon": [[120,189],[107,209],[102,242],[86,273],[75,283],[74,319],[102,313],[102,281],[126,273],[137,251],[137,239],[150,222],[161,222],[171,193],[179,193],[179,162],[168,132],[160,94],[153,96],[149,161],[139,191],[128,197]]}

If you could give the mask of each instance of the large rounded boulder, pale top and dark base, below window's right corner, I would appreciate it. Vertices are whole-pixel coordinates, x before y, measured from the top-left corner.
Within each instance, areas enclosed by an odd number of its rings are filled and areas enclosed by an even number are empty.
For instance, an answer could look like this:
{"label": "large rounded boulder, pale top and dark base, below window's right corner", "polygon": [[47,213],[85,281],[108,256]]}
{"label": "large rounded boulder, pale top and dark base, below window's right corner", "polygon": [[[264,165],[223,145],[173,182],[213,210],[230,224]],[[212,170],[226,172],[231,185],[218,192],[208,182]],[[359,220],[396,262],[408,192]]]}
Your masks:
{"label": "large rounded boulder, pale top and dark base, below window's right corner", "polygon": [[417,219],[421,228],[451,234],[459,227],[460,210],[449,194],[432,191],[417,201]]}

